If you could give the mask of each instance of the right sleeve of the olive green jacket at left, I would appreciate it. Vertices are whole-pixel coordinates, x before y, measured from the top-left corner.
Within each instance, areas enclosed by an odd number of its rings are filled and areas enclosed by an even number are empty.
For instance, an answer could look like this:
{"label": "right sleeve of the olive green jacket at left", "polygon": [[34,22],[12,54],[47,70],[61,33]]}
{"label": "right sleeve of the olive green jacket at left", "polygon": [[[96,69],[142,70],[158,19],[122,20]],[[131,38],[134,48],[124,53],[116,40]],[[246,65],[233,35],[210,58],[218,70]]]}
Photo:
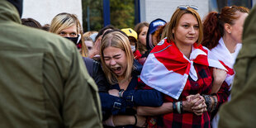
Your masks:
{"label": "right sleeve of the olive green jacket at left", "polygon": [[74,50],[69,78],[64,83],[65,127],[102,127],[96,83],[88,75],[78,50]]}

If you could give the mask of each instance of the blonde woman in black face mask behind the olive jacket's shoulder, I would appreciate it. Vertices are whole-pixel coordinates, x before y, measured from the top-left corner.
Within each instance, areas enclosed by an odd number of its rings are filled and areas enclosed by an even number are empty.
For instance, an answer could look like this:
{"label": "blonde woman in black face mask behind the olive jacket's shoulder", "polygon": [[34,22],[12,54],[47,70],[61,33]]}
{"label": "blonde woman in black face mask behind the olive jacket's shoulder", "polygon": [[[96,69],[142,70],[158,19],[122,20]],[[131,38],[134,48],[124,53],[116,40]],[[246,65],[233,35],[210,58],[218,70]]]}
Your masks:
{"label": "blonde woman in black face mask behind the olive jacket's shoulder", "polygon": [[83,41],[83,28],[76,17],[69,13],[59,13],[56,15],[50,23],[50,32],[56,33],[59,36],[63,36],[69,40],[72,40],[78,49],[81,50],[83,57],[88,56],[88,50]]}

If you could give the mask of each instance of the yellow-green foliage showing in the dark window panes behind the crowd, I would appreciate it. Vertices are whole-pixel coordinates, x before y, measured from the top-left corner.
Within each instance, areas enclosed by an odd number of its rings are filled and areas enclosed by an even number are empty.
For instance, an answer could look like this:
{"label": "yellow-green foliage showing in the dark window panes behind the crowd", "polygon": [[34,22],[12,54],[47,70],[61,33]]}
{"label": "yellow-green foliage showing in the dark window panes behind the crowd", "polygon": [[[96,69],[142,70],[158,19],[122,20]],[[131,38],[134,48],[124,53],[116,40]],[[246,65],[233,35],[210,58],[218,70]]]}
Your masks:
{"label": "yellow-green foliage showing in the dark window panes behind the crowd", "polygon": [[[99,31],[104,27],[103,21],[103,0],[86,0],[83,2],[83,30],[88,31],[88,21],[90,31]],[[88,10],[89,7],[89,19]],[[110,0],[111,25],[117,28],[135,26],[135,4],[134,0]]]}

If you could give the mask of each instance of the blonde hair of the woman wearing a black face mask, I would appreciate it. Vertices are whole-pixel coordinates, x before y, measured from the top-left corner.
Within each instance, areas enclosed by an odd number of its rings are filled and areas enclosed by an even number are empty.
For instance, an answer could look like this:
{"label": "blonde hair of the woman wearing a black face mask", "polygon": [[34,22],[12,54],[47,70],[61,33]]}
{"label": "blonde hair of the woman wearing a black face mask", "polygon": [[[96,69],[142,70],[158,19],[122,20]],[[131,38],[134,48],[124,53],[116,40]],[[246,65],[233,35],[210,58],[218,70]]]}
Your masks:
{"label": "blonde hair of the woman wearing a black face mask", "polygon": [[82,49],[81,55],[83,57],[88,57],[88,50],[86,45],[83,43],[83,28],[78,20],[78,17],[74,14],[69,14],[66,12],[59,13],[56,15],[50,23],[50,32],[55,34],[59,34],[60,31],[69,28],[70,26],[77,26],[77,32],[81,36]]}

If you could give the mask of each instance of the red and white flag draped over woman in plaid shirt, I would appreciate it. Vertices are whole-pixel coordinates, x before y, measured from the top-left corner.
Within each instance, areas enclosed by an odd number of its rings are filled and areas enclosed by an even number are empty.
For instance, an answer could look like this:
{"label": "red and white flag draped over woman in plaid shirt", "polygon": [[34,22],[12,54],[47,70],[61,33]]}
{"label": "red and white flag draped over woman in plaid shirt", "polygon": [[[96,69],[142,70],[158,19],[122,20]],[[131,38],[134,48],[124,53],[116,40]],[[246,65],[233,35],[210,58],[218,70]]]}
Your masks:
{"label": "red and white flag draped over woman in plaid shirt", "polygon": [[212,59],[213,56],[209,52],[194,43],[190,59],[187,59],[173,42],[168,43],[167,39],[161,40],[151,50],[140,78],[149,87],[178,99],[187,83],[188,75],[197,81],[197,71],[193,63],[225,69],[217,59]]}

